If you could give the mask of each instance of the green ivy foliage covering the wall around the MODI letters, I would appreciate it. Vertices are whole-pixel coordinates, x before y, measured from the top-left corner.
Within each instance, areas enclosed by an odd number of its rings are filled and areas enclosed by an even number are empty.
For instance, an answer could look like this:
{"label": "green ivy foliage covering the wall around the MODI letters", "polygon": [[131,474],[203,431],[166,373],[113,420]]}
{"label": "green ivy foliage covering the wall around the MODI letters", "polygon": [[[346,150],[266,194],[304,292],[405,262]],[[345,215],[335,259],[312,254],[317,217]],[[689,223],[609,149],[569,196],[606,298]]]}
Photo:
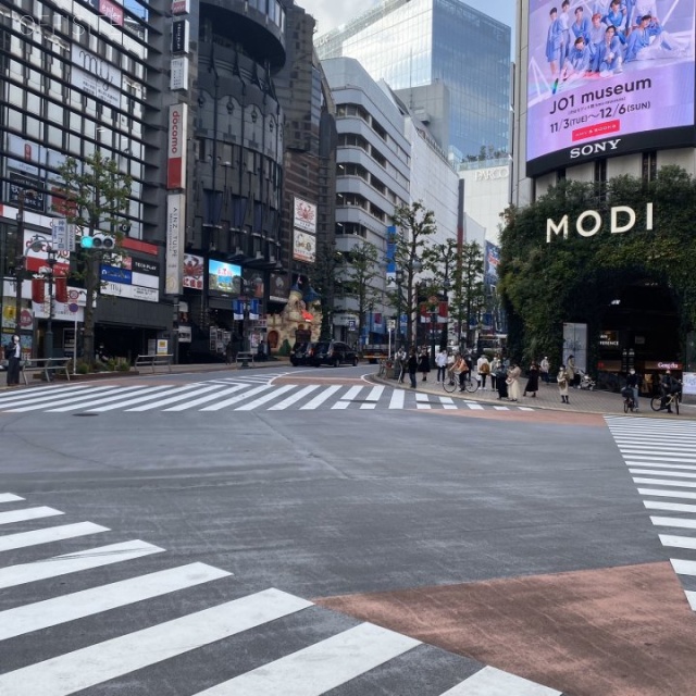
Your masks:
{"label": "green ivy foliage covering the wall around the MODI letters", "polygon": [[[654,203],[652,229],[646,204]],[[635,226],[610,233],[610,208],[627,206]],[[585,210],[596,210],[602,226],[593,237],[575,231]],[[568,238],[552,235],[547,219],[568,214]],[[515,358],[548,355],[561,360],[563,322],[588,324],[591,346],[601,328],[602,308],[625,285],[650,281],[673,288],[684,334],[696,324],[696,183],[678,166],[662,167],[656,179],[619,176],[602,188],[564,181],[524,209],[509,208],[501,232],[498,289],[509,318],[509,347]],[[625,216],[621,219],[625,222]],[[589,224],[587,223],[587,226]],[[589,356],[594,361],[594,356]]]}

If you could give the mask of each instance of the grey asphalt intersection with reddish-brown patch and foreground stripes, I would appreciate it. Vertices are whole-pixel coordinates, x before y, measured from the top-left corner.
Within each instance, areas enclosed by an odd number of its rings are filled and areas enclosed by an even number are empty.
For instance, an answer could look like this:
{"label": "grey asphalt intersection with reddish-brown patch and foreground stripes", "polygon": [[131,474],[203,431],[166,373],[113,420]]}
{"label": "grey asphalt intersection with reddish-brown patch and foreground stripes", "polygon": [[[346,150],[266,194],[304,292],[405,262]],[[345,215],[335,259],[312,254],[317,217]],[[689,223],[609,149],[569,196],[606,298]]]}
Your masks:
{"label": "grey asphalt intersection with reddish-brown patch and foreground stripes", "polygon": [[[0,395],[0,694],[435,696],[477,679],[469,686],[478,691],[451,693],[667,696],[696,683],[684,587],[602,417],[394,409],[391,387],[374,405],[335,407],[347,398],[336,397],[301,410],[287,401],[296,387],[345,393],[369,370],[278,372],[290,374],[137,380],[229,389],[209,405],[271,378],[288,387],[247,411],[239,399],[234,409],[90,412],[94,396],[66,412],[17,411],[12,397],[13,412]],[[27,508],[63,514],[2,518]],[[26,543],[85,522],[105,529]],[[137,601],[119,585],[192,563],[198,580],[166,581],[174,589]],[[112,604],[69,597],[92,588]],[[36,604],[47,600],[55,606]],[[251,629],[228,630],[235,600],[256,602]],[[74,616],[90,601],[97,609]],[[363,635],[375,629],[362,621],[396,633]],[[326,657],[340,654],[336,635],[355,635],[366,656],[344,681],[347,661]],[[293,667],[291,654],[303,661]],[[301,675],[318,660],[312,691]],[[277,670],[259,674],[268,663]],[[530,682],[505,681],[512,675]],[[548,689],[524,691],[533,684]]]}

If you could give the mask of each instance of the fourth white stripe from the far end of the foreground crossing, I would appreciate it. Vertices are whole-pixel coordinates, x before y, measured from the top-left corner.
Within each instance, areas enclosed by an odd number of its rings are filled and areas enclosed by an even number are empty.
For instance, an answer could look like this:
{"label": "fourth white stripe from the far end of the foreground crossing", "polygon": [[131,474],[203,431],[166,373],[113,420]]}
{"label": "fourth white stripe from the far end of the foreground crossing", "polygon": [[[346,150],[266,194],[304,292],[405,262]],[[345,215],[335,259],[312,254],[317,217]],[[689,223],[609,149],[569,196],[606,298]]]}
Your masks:
{"label": "fourth white stripe from the far end of the foreground crossing", "polygon": [[[9,566],[8,568],[0,568],[0,589],[33,583],[38,580],[47,580],[48,577],[67,575],[69,573],[76,573],[80,570],[129,561],[141,558],[142,556],[150,556],[150,554],[160,554],[163,550],[164,549],[159,546],[153,546],[140,539],[134,539],[132,542],[90,548],[85,551],[78,551],[77,554],[54,556],[53,558],[46,558],[32,563]],[[0,694],[4,696],[1,688]]]}

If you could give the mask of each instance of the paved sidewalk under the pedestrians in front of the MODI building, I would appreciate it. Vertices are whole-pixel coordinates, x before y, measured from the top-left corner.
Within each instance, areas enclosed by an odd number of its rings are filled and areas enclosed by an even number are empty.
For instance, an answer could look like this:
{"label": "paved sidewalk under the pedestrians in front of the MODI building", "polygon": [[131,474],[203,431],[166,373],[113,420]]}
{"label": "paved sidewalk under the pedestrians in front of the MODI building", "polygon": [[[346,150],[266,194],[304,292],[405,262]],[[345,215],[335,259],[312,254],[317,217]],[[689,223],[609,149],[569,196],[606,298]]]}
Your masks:
{"label": "paved sidewalk under the pedestrians in front of the MODI building", "polygon": [[[383,377],[374,377],[380,384],[396,385],[396,380],[385,380]],[[425,391],[426,394],[445,395],[445,390],[442,385],[435,382],[435,374],[430,373],[427,382],[421,382],[421,374],[419,373],[419,383],[417,391]],[[522,387],[526,384],[526,380],[522,378]],[[408,385],[403,385],[407,388]],[[493,391],[488,386],[488,389],[480,388],[474,394],[469,391],[455,391],[455,394],[447,395],[457,399],[465,399],[469,401],[478,401],[481,403],[509,403],[508,399],[498,400],[498,393]],[[524,406],[535,409],[552,409],[558,411],[571,411],[576,413],[621,413],[623,414],[623,398],[620,394],[611,391],[600,391],[587,389],[570,389],[568,397],[570,403],[561,403],[561,397],[558,393],[558,386],[556,384],[539,384],[539,390],[536,393],[536,397],[522,397],[517,401],[515,406]],[[696,419],[696,406],[691,403],[680,403],[680,414],[670,414],[666,411],[656,412],[650,408],[649,397],[641,397],[638,400],[638,415],[649,415],[655,418],[686,418]]]}

